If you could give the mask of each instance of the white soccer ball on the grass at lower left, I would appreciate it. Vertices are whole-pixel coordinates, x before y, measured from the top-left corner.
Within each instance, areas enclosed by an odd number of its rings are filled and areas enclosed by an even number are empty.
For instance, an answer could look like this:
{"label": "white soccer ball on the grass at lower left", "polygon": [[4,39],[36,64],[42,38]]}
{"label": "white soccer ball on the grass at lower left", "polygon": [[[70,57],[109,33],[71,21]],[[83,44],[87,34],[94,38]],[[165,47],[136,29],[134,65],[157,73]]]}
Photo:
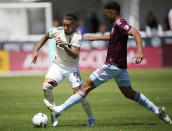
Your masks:
{"label": "white soccer ball on the grass at lower left", "polygon": [[34,127],[46,127],[48,124],[48,117],[44,113],[36,113],[32,118]]}

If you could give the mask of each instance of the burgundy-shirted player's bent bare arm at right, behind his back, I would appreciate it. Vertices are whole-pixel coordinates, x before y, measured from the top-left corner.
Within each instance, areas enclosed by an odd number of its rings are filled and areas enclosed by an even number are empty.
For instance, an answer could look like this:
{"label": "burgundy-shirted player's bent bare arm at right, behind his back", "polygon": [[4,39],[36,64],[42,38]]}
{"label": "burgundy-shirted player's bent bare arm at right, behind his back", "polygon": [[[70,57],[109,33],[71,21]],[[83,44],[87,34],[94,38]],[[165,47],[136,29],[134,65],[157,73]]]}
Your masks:
{"label": "burgundy-shirted player's bent bare arm at right, behind his back", "polygon": [[137,45],[137,54],[133,59],[135,59],[136,64],[140,64],[143,60],[143,48],[142,48],[142,38],[140,33],[132,27],[129,31],[129,35],[133,36]]}

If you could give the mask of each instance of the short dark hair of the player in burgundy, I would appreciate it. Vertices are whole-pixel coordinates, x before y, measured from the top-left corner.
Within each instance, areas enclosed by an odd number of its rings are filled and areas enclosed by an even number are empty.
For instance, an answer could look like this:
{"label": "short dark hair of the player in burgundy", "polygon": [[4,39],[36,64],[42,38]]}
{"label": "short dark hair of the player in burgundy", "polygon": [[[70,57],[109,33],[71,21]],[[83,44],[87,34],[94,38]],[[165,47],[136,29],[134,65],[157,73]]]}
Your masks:
{"label": "short dark hair of the player in burgundy", "polygon": [[117,2],[110,2],[106,4],[104,7],[108,10],[115,10],[118,14],[120,14],[120,5]]}

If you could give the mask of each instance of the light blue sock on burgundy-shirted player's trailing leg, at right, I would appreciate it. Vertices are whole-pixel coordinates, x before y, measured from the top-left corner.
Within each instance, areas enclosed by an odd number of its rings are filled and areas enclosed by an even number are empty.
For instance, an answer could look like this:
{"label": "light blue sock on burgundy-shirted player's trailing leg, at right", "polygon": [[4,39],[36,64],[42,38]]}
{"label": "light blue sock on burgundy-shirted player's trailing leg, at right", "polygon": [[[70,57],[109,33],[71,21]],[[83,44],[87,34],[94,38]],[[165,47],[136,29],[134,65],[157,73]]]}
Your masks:
{"label": "light blue sock on burgundy-shirted player's trailing leg, at right", "polygon": [[160,112],[158,107],[154,103],[152,103],[148,98],[146,98],[143,94],[139,93],[137,102],[140,105],[146,107],[148,110],[154,112],[156,115],[159,115]]}

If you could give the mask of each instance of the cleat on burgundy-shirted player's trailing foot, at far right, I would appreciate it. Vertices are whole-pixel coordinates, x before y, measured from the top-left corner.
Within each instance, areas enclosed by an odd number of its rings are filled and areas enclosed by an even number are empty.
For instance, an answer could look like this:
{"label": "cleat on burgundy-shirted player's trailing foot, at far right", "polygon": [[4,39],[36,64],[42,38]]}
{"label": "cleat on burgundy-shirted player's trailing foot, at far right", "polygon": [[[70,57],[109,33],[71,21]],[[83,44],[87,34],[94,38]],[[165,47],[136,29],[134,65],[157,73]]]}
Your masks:
{"label": "cleat on burgundy-shirted player's trailing foot, at far right", "polygon": [[165,107],[160,107],[159,112],[160,112],[159,118],[161,120],[163,120],[167,124],[172,124],[172,121],[171,121],[170,117],[167,115],[167,113],[165,111]]}

